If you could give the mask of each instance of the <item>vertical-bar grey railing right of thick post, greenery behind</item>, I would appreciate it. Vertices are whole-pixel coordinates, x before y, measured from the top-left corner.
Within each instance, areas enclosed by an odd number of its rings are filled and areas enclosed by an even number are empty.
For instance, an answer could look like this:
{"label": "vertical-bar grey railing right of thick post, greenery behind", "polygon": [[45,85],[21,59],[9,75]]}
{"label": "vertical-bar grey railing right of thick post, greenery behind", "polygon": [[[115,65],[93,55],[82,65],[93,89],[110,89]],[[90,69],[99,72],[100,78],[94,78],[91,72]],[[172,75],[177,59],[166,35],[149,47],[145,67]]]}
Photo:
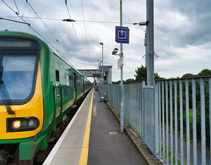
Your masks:
{"label": "vertical-bar grey railing right of thick post, greenery behind", "polygon": [[211,78],[159,81],[156,87],[160,158],[166,164],[211,164]]}

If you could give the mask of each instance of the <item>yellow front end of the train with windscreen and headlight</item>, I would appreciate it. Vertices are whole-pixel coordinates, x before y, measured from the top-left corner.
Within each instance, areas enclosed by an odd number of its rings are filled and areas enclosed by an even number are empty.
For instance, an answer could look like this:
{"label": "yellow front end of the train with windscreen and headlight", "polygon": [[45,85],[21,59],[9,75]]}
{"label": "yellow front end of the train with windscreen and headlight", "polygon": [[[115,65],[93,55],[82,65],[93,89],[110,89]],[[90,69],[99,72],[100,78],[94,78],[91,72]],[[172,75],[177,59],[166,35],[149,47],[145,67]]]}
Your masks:
{"label": "yellow front end of the train with windscreen and headlight", "polygon": [[0,32],[0,160],[29,160],[43,125],[40,45],[15,34]]}

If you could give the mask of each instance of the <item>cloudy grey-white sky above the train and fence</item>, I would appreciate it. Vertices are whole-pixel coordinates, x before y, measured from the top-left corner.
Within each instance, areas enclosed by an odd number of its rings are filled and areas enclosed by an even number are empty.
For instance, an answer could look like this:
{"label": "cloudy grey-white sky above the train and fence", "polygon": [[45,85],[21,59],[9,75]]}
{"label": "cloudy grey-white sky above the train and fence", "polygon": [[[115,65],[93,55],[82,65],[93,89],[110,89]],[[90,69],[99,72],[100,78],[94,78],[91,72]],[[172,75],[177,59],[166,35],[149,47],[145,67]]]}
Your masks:
{"label": "cloudy grey-white sky above the train and fence", "polygon": [[[119,0],[4,0],[31,27],[44,37],[76,68],[96,68],[97,60],[113,66],[113,81],[120,79],[118,56],[112,56],[115,26],[119,26]],[[123,1],[123,26],[130,29],[130,43],[123,45],[124,80],[134,78],[135,69],[145,65],[146,0]],[[83,8],[82,8],[83,6]],[[22,21],[0,1],[0,17]],[[155,72],[161,77],[181,77],[211,69],[211,1],[155,0]],[[35,14],[37,13],[37,15]],[[70,18],[74,23],[63,22]],[[42,21],[38,18],[42,18]],[[85,23],[84,21],[85,20]],[[0,20],[0,30],[22,31],[39,36],[28,25]],[[57,42],[58,40],[59,42]]]}

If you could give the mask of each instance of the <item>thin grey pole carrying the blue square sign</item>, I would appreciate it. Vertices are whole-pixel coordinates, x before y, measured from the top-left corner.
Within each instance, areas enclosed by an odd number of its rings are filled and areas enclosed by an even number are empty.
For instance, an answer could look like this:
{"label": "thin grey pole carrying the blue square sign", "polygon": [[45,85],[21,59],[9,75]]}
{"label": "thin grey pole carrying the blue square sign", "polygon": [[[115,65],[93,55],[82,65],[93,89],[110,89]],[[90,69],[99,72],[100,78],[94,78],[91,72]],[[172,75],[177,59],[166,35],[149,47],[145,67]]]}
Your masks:
{"label": "thin grey pole carrying the blue square sign", "polygon": [[[122,26],[122,0],[120,0],[120,26]],[[123,45],[120,43],[120,54],[123,54]],[[123,57],[122,57],[123,58]],[[120,132],[124,132],[124,86],[123,66],[121,67],[121,106],[120,106]]]}

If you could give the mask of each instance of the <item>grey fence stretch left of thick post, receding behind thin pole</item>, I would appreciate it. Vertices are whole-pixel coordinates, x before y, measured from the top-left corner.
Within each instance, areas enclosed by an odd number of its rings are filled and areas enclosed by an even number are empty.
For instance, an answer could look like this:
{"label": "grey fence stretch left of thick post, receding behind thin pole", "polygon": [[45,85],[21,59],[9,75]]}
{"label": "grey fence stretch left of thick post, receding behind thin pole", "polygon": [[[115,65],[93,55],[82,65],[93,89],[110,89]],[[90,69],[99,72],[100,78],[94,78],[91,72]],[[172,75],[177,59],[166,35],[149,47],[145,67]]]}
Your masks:
{"label": "grey fence stretch left of thick post, receding behind thin pole", "polygon": [[[142,137],[141,123],[141,83],[124,84],[124,118],[131,127]],[[111,103],[111,105],[120,113],[121,87],[115,85],[100,85],[99,92]]]}

